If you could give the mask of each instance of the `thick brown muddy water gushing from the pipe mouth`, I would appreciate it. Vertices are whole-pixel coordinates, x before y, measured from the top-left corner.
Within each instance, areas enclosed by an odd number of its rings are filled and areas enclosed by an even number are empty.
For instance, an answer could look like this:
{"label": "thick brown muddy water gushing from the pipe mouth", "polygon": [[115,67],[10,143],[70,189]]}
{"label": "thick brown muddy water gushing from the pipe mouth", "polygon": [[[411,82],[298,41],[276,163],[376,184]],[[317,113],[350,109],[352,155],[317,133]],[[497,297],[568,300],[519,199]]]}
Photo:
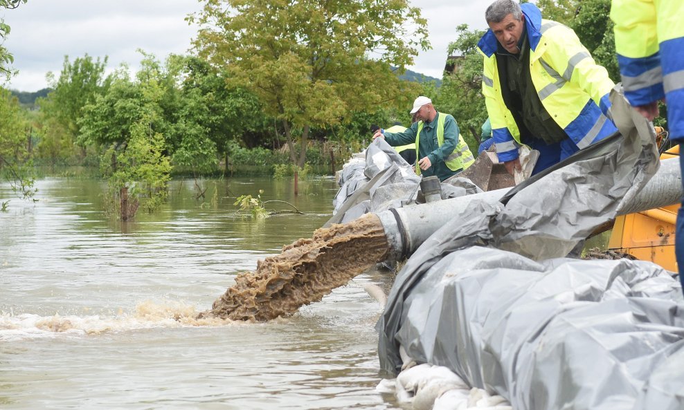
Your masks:
{"label": "thick brown muddy water gushing from the pipe mouth", "polygon": [[266,321],[295,313],[383,261],[387,251],[373,214],[318,229],[311,239],[299,239],[260,261],[254,272],[238,275],[235,286],[200,317]]}

